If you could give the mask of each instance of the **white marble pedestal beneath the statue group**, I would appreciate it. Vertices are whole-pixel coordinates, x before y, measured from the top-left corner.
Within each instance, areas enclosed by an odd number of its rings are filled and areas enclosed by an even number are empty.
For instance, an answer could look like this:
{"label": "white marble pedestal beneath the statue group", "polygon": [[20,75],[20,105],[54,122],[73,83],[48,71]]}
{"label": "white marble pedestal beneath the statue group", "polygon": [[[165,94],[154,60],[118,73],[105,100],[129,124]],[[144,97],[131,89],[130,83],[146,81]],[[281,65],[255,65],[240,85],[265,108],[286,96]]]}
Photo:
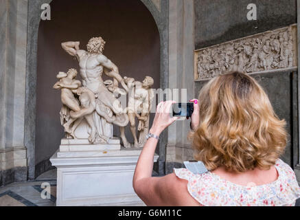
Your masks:
{"label": "white marble pedestal beneath the statue group", "polygon": [[57,168],[56,206],[143,206],[132,188],[140,148],[78,149],[64,146],[50,159]]}

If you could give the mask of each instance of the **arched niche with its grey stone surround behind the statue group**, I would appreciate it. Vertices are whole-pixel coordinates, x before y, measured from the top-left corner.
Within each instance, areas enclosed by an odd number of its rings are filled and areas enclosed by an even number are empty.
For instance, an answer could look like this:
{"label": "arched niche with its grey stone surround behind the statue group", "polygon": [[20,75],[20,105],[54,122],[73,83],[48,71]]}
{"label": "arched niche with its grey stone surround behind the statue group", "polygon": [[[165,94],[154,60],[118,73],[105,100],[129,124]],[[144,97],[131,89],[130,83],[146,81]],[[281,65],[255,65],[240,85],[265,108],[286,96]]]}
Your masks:
{"label": "arched niche with its grey stone surround behind the statue group", "polygon": [[[137,80],[141,80],[141,77],[148,74],[148,71],[155,72],[157,68],[160,79],[157,80],[159,84],[155,87],[163,89],[168,87],[168,1],[161,1],[161,11],[150,0],[130,0],[126,1],[126,4],[124,4],[125,1],[122,1],[123,3],[118,1],[115,5],[114,1],[117,0],[94,0],[89,3],[84,0],[65,0],[64,3],[58,0],[29,1],[25,100],[25,146],[27,147],[29,179],[34,179],[47,170],[49,166],[47,161],[55,148],[58,148],[58,140],[62,135],[62,128],[58,123],[60,96],[58,92],[51,89],[56,80],[55,76],[58,71],[67,71],[69,67],[78,69],[78,63],[62,51],[60,47],[62,41],[81,41],[81,46],[84,48],[91,36],[102,36],[106,40],[104,54],[119,67],[122,76],[134,76]],[[51,5],[51,21],[41,22],[43,3]],[[135,10],[135,7],[143,13]],[[100,14],[101,10],[102,14]],[[97,14],[97,11],[100,13]],[[126,17],[130,14],[132,22],[136,20],[132,24],[135,26],[133,28],[130,22],[122,19],[122,15]],[[113,18],[114,15],[115,18]],[[92,21],[80,19],[80,17],[87,17]],[[147,22],[154,19],[156,25],[153,27],[157,28],[154,28],[153,33],[149,30],[139,33],[144,17],[148,17]],[[160,52],[157,52],[155,47],[151,48],[147,45],[147,42],[155,44],[157,41],[155,32],[159,34],[157,40],[160,44]],[[153,37],[154,41],[153,39],[150,41]],[[130,43],[129,39],[132,39],[133,43]],[[143,47],[137,45],[143,45]],[[144,48],[147,50],[143,50]],[[153,63],[155,66],[154,56],[159,56],[159,67],[149,65]],[[127,62],[124,61],[125,59]],[[137,64],[132,65],[130,62],[137,62]],[[157,151],[160,155],[160,174],[163,174],[164,170],[167,135],[163,137],[165,138],[162,138],[160,142],[160,146],[163,147]]]}

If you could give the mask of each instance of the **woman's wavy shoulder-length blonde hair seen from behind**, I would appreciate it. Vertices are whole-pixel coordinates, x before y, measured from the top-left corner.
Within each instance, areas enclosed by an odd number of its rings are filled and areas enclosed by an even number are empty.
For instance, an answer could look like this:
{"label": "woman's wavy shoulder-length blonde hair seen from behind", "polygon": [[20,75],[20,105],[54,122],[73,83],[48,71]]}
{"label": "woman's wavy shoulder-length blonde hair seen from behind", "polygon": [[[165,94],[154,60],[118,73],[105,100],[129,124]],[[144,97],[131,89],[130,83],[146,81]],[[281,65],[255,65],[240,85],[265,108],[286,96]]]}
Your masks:
{"label": "woman's wavy shoulder-length blonde hair seen from behind", "polygon": [[190,134],[209,170],[268,170],[284,152],[286,121],[279,120],[254,78],[240,72],[218,76],[199,94],[200,124]]}

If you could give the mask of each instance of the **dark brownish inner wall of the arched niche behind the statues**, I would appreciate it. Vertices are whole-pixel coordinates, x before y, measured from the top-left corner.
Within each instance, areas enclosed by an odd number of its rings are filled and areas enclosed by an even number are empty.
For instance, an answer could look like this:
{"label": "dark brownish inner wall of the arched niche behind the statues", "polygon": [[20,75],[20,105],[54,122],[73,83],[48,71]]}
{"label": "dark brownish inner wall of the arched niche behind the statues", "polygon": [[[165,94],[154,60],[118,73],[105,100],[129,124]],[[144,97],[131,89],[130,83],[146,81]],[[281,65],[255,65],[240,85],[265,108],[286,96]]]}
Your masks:
{"label": "dark brownish inner wall of the arched niche behind the statues", "polygon": [[[121,76],[136,80],[152,76],[154,88],[159,88],[159,31],[140,0],[52,1],[51,21],[41,21],[38,30],[35,160],[36,164],[42,162],[38,173],[47,170],[43,162],[55,153],[64,135],[60,91],[52,89],[56,74],[69,68],[79,72],[78,62],[62,50],[60,43],[80,41],[80,47],[86,50],[93,36],[106,41],[104,55],[119,67]],[[126,135],[132,141],[129,129]]]}

